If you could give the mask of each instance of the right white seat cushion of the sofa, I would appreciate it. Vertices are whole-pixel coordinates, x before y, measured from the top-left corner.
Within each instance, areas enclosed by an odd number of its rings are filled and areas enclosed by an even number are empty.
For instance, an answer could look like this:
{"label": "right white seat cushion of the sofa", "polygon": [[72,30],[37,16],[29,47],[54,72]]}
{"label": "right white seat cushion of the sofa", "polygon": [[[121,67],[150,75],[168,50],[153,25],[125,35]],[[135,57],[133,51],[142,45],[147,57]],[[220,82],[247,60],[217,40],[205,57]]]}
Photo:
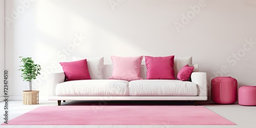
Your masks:
{"label": "right white seat cushion of the sofa", "polygon": [[131,96],[197,96],[197,84],[181,80],[134,80],[129,83]]}

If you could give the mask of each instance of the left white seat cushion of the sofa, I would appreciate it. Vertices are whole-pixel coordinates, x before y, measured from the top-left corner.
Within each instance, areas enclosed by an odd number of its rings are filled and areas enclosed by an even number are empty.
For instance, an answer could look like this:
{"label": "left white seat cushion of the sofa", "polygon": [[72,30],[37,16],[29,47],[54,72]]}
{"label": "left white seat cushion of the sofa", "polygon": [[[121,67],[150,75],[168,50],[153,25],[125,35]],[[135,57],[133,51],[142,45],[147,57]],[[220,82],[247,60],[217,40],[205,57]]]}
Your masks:
{"label": "left white seat cushion of the sofa", "polygon": [[129,81],[110,79],[74,80],[58,83],[58,96],[128,96]]}

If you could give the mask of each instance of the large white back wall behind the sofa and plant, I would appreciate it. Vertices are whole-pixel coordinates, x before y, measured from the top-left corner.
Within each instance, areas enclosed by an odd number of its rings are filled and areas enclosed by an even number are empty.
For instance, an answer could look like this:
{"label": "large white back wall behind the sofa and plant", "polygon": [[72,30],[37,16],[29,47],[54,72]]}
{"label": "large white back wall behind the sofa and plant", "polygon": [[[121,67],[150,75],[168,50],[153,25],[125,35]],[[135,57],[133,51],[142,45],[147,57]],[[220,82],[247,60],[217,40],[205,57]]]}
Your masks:
{"label": "large white back wall behind the sofa and plant", "polygon": [[118,2],[6,1],[6,16],[12,19],[6,25],[11,98],[22,99],[28,89],[17,71],[18,56],[44,67],[33,87],[40,97],[47,96],[47,74],[60,71],[55,64],[72,56],[104,56],[106,64],[112,63],[111,55],[193,56],[208,81],[223,75],[236,78],[239,86],[256,86],[256,1]]}

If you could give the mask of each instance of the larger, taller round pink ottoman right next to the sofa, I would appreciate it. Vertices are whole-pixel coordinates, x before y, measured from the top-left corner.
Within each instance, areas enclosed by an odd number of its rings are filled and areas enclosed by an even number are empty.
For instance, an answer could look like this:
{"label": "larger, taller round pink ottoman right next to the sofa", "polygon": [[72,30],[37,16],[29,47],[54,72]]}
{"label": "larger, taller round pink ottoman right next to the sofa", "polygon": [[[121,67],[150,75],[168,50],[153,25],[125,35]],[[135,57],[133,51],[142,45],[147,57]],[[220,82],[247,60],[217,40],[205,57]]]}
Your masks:
{"label": "larger, taller round pink ottoman right next to the sofa", "polygon": [[232,77],[216,77],[211,80],[211,100],[218,104],[237,101],[238,81]]}

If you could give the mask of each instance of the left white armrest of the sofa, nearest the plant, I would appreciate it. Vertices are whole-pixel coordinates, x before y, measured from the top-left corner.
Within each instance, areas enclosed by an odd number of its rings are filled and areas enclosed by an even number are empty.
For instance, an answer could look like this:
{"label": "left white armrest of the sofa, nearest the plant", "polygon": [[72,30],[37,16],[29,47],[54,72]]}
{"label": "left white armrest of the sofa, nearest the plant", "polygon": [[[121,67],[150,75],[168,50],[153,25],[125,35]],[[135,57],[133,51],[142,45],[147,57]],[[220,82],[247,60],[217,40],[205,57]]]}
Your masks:
{"label": "left white armrest of the sofa, nearest the plant", "polygon": [[58,83],[65,81],[63,72],[51,73],[48,77],[48,96],[56,96],[55,89]]}

